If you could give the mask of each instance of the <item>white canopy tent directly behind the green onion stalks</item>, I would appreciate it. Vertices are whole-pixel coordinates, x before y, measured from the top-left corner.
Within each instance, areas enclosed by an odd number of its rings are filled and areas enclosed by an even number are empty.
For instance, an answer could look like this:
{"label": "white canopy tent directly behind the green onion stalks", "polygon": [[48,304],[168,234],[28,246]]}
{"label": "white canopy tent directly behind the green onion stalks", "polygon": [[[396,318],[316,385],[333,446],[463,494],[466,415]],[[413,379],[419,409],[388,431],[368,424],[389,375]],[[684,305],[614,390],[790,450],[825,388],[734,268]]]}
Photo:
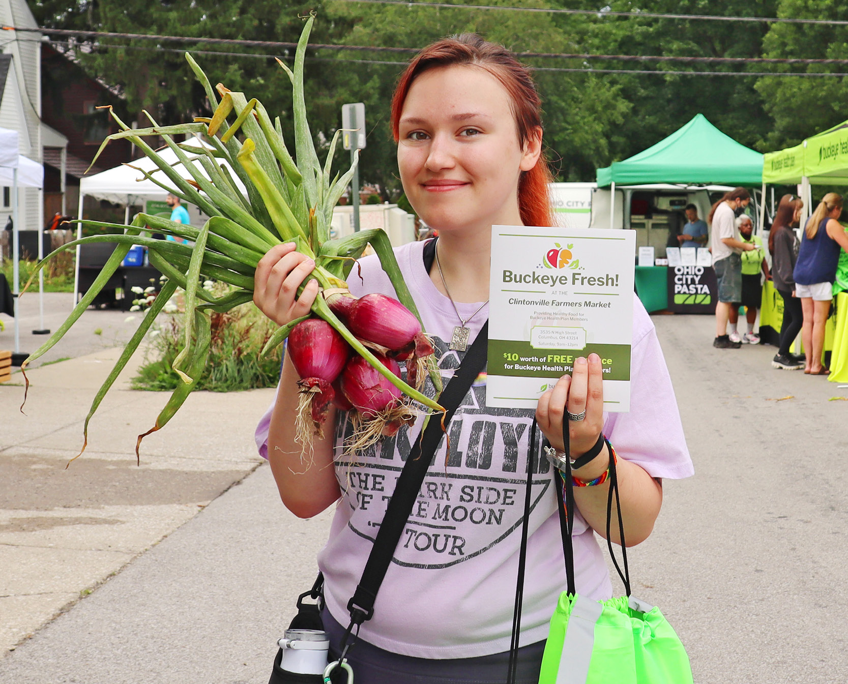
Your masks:
{"label": "white canopy tent directly behind the green onion stalks", "polygon": [[[195,139],[191,141],[192,146],[201,146],[205,145],[204,142],[199,139]],[[211,149],[210,146],[209,149]],[[187,153],[190,159],[198,158],[197,154]],[[174,170],[178,174],[180,174],[183,178],[191,179],[191,174],[185,169],[185,167],[179,163],[176,153],[174,153],[170,149],[165,149],[159,152],[159,156],[170,164]],[[247,196],[248,191],[247,188],[244,187],[242,181],[239,180],[236,173],[232,170],[232,167],[226,163],[226,161],[222,159],[216,159],[218,164],[224,164],[226,169],[230,172],[230,176],[239,192],[242,192],[244,196]],[[131,165],[136,167],[135,169],[131,168],[130,165],[121,164],[120,166],[115,166],[114,169],[109,169],[106,171],[102,171],[99,174],[87,176],[80,179],[80,205],[79,211],[77,213],[78,217],[82,217],[82,203],[84,198],[94,197],[99,200],[105,200],[106,202],[111,202],[113,204],[122,204],[124,209],[124,223],[125,225],[129,225],[130,223],[130,207],[142,204],[151,201],[165,201],[165,197],[168,195],[168,191],[162,187],[159,187],[153,181],[145,178],[139,169],[147,171],[151,173],[156,171],[156,176],[158,180],[165,185],[171,185],[168,177],[162,173],[161,170],[158,170],[159,167],[153,162],[152,159],[143,157],[140,159],[136,159],[131,162]],[[198,167],[200,164],[198,164]],[[205,176],[204,172],[204,176]],[[194,209],[193,207],[191,209]],[[198,210],[199,211],[199,210]],[[189,212],[192,213],[191,210]],[[82,225],[78,225],[76,231],[77,239],[82,237]],[[76,264],[80,263],[80,247],[76,247]],[[79,289],[79,281],[80,281],[80,270],[79,265],[76,266],[76,273],[74,279],[74,305],[76,305],[77,301],[77,290]]]}

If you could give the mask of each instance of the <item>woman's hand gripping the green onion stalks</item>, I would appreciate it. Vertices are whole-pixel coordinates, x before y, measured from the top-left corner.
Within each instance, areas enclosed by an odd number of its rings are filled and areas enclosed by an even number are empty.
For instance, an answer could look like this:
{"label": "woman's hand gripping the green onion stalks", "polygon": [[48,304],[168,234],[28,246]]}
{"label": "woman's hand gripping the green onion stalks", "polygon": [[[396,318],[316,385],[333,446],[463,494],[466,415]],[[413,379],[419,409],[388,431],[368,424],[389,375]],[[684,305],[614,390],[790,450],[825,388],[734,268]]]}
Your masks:
{"label": "woman's hand gripping the green onion stalks", "polygon": [[277,325],[310,313],[318,296],[318,281],[311,280],[298,297],[298,287],[315,269],[315,261],[295,251],[294,242],[271,247],[256,267],[254,303]]}

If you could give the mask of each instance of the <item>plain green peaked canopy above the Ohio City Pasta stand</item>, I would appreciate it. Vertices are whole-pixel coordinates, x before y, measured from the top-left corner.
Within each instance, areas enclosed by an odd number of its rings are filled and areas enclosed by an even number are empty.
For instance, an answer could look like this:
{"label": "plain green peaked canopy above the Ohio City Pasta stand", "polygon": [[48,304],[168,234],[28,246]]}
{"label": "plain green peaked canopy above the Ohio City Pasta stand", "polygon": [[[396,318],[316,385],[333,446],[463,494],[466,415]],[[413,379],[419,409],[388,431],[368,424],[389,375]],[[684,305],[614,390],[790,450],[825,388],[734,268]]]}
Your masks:
{"label": "plain green peaked canopy above the Ohio City Pasta stand", "polygon": [[[598,187],[684,183],[759,186],[762,154],[719,131],[703,114],[656,145],[597,170]],[[611,212],[612,215],[612,212]]]}

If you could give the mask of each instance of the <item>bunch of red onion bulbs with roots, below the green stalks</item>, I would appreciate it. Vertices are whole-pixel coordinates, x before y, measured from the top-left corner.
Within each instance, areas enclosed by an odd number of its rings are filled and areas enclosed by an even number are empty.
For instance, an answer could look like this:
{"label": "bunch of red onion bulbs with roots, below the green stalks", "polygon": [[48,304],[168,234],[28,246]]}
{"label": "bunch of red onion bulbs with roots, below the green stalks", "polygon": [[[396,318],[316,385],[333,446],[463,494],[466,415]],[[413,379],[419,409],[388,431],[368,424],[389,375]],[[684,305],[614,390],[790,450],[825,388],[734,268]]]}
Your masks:
{"label": "bunch of red onion bulbs with roots, below the green stalks", "polygon": [[[334,294],[327,298],[333,313],[349,331],[394,375],[404,361],[407,381],[420,388],[432,344],[414,314],[396,299],[383,294],[354,298]],[[298,442],[321,436],[327,410],[354,412],[355,448],[364,448],[381,435],[393,435],[400,425],[411,425],[415,414],[404,394],[377,372],[325,320],[310,318],[293,327],[287,353],[298,372]]]}

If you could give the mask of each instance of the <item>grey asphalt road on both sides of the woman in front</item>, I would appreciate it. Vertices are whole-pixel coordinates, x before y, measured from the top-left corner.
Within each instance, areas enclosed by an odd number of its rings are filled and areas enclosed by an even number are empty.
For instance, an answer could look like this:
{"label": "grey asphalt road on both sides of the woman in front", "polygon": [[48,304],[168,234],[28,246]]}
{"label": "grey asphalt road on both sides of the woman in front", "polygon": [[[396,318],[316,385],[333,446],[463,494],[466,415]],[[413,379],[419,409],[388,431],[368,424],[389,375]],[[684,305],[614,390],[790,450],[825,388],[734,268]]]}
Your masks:
{"label": "grey asphalt road on both sides of the woman in front", "polygon": [[[632,550],[707,684],[842,682],[848,391],[711,348],[712,321],[657,316],[696,475],[667,482]],[[267,466],[0,660],[0,684],[264,682],[326,514],[294,520]]]}

